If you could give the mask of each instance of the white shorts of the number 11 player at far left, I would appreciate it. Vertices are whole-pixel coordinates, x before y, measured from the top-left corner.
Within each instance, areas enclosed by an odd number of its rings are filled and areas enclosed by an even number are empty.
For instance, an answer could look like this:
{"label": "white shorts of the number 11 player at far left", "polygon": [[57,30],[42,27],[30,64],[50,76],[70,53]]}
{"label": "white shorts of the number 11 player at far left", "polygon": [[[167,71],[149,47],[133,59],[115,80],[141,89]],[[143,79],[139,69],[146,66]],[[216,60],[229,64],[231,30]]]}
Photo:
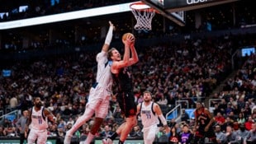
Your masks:
{"label": "white shorts of the number 11 player at far left", "polygon": [[36,144],[45,144],[47,141],[47,137],[48,137],[47,129],[45,130],[31,129],[27,137],[27,144],[33,144],[35,142]]}

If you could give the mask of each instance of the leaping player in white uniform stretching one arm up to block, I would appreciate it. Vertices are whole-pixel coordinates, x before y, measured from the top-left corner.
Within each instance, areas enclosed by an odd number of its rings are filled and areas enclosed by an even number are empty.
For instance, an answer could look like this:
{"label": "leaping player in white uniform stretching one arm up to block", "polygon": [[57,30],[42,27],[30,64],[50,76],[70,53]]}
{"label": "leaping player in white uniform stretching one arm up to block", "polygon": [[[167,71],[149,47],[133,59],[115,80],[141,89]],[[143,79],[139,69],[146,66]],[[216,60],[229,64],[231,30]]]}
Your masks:
{"label": "leaping player in white uniform stretching one arm up to block", "polygon": [[89,92],[88,103],[82,116],[73,124],[73,127],[66,132],[64,144],[70,144],[73,133],[78,130],[84,123],[86,123],[95,113],[95,120],[92,125],[91,131],[88,134],[85,144],[90,144],[94,138],[95,133],[101,127],[103,119],[107,116],[109,100],[111,98],[112,76],[110,63],[107,59],[107,51],[109,49],[114,25],[109,21],[109,30],[102,46],[102,51],[97,53],[97,77],[96,83],[92,85]]}

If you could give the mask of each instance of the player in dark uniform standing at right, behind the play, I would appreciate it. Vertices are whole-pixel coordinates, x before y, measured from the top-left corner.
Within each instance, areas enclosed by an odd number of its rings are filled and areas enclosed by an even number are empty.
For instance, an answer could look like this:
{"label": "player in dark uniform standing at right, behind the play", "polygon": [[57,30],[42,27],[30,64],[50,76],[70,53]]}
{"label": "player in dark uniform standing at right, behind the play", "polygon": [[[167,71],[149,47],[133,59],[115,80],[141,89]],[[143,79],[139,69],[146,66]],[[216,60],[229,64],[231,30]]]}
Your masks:
{"label": "player in dark uniform standing at right, behind the play", "polygon": [[195,115],[195,127],[194,132],[196,132],[195,142],[202,143],[204,138],[209,138],[213,143],[216,142],[216,134],[213,128],[214,119],[211,116],[208,109],[206,109],[200,102],[197,102],[197,109],[194,111]]}

